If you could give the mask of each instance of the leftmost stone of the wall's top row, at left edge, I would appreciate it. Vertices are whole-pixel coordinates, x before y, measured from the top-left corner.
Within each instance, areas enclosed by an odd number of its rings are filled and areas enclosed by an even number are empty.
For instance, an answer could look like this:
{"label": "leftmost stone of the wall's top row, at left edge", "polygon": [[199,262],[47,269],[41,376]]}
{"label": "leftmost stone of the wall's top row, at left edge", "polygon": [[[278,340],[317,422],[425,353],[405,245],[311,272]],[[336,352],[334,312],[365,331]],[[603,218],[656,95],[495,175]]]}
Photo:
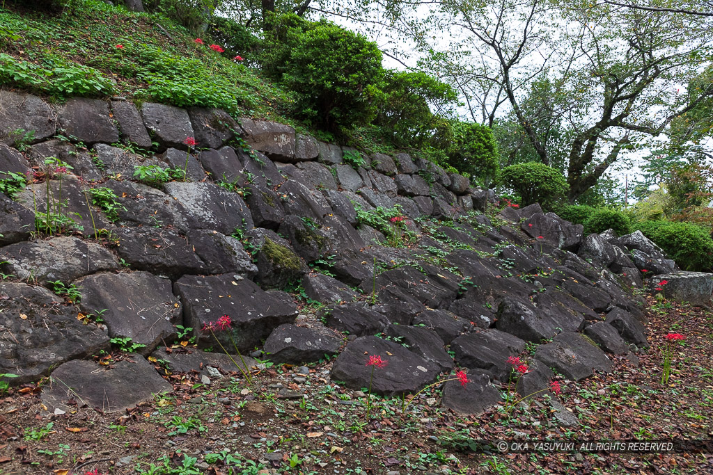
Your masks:
{"label": "leftmost stone of the wall's top row, at left edge", "polygon": [[[13,145],[30,132],[30,143],[41,142],[56,132],[57,119],[52,108],[36,95],[0,89],[0,142]],[[20,130],[18,136],[16,131]]]}

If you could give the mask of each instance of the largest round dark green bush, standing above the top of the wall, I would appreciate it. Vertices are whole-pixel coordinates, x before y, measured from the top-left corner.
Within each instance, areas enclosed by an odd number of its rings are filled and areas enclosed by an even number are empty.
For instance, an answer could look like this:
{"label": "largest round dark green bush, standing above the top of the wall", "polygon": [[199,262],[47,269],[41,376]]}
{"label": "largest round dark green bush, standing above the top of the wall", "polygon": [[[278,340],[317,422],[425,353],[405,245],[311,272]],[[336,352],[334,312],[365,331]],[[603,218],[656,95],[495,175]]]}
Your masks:
{"label": "largest round dark green bush, standing above the top of the wall", "polygon": [[327,130],[374,119],[384,71],[376,43],[327,21],[287,37],[293,46],[282,80],[299,94],[299,115]]}

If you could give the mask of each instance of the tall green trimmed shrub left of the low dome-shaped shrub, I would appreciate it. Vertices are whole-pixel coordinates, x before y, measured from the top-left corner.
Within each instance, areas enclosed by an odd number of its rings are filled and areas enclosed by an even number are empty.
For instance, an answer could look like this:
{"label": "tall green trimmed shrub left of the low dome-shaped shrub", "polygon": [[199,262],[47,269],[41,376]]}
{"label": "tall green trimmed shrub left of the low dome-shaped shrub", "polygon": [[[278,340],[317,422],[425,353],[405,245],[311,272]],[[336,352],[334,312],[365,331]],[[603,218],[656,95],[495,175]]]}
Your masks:
{"label": "tall green trimmed shrub left of the low dome-shaped shrub", "polygon": [[453,122],[451,128],[453,142],[448,148],[448,165],[487,187],[497,178],[500,169],[493,131],[471,122]]}

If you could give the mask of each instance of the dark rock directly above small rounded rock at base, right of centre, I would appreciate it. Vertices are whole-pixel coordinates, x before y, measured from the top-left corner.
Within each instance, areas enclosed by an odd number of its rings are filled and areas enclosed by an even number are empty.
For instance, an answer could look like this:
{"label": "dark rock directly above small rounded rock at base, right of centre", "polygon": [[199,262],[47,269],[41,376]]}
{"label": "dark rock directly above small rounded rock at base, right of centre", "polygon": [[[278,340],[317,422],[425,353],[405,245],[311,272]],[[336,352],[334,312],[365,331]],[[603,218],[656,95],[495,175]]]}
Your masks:
{"label": "dark rock directly above small rounded rock at base, right of centre", "polygon": [[486,370],[504,381],[510,374],[508,357],[525,350],[525,341],[500,330],[482,330],[459,336],[451,342],[456,363],[464,367]]}

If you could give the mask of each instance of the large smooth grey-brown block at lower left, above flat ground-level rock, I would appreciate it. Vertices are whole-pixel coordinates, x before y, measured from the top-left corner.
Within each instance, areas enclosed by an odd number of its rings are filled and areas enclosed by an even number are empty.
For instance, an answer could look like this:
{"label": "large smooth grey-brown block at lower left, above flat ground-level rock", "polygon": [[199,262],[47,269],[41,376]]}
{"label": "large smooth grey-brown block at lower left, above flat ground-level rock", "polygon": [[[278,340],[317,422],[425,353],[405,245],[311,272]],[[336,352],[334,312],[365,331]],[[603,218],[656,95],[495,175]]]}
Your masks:
{"label": "large smooth grey-brown block at lower left, above flat ground-level rock", "polygon": [[82,311],[101,315],[111,337],[146,345],[138,350],[142,355],[175,338],[173,325],[180,323],[181,306],[168,279],[148,272],[96,273],[76,281],[76,286]]}

